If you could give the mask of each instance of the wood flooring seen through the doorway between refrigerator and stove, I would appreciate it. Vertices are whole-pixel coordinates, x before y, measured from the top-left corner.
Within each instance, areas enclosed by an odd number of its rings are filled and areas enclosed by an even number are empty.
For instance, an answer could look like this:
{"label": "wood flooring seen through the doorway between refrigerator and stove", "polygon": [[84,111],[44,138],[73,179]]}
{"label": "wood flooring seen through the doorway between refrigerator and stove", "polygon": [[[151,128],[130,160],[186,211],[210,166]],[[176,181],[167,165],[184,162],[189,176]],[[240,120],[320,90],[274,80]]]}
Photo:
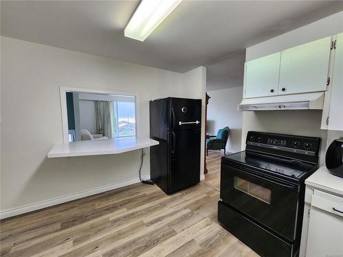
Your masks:
{"label": "wood flooring seen through the doorway between refrigerator and stove", "polygon": [[209,156],[206,156],[208,173],[205,174],[204,183],[217,191],[220,191],[220,160],[222,156],[224,156],[224,151],[219,150],[209,150]]}

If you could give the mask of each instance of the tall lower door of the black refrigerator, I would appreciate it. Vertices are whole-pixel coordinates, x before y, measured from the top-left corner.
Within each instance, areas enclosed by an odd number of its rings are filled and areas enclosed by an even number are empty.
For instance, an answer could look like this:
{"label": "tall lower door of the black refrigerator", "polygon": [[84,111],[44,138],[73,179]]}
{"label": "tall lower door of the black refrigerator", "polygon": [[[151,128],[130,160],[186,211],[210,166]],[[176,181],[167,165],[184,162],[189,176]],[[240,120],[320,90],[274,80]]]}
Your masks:
{"label": "tall lower door of the black refrigerator", "polygon": [[169,193],[180,191],[200,182],[200,130],[169,132],[171,138],[171,167]]}

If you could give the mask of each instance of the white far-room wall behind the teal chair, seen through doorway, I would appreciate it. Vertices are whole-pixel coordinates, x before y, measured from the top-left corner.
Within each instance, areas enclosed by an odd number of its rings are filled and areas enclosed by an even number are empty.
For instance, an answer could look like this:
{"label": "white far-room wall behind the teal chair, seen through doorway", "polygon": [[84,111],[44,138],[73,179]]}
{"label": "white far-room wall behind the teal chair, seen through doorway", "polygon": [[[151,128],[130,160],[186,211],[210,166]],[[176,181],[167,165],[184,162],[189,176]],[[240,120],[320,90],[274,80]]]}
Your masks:
{"label": "white far-room wall behind the teal chair, seen through doorway", "polygon": [[211,97],[207,106],[208,134],[216,135],[221,128],[230,127],[226,151],[241,151],[242,112],[237,110],[237,105],[241,102],[243,86],[211,90],[207,94]]}

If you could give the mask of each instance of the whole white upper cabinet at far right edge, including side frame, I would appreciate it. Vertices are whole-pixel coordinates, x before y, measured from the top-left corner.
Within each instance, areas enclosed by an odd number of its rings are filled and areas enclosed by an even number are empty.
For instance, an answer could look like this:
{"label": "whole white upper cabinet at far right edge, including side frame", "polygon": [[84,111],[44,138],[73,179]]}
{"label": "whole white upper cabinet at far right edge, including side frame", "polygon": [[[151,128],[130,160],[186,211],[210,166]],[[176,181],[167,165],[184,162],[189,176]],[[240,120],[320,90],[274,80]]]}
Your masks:
{"label": "whole white upper cabinet at far right edge, including side frame", "polygon": [[343,33],[333,41],[330,83],[324,99],[322,129],[343,130]]}

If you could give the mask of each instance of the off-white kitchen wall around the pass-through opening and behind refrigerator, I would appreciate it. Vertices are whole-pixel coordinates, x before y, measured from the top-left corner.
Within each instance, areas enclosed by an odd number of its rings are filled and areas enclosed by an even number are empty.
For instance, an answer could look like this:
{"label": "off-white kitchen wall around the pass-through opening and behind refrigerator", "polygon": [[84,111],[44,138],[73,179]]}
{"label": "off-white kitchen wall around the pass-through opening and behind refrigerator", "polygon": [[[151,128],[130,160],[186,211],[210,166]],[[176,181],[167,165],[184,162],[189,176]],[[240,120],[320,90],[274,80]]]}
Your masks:
{"label": "off-white kitchen wall around the pass-through opening and behind refrigerator", "polygon": [[140,151],[47,159],[52,145],[63,142],[59,86],[139,95],[140,134],[149,136],[149,100],[203,99],[204,71],[183,75],[1,37],[1,216],[138,181]]}

